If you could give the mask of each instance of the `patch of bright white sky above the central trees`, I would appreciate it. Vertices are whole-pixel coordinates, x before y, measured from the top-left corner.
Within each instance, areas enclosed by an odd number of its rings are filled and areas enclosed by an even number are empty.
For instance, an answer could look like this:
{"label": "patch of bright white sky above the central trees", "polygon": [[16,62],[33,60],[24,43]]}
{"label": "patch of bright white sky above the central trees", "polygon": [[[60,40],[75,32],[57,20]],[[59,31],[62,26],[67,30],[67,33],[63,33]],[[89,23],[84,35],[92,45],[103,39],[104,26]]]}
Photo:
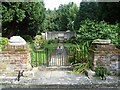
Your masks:
{"label": "patch of bright white sky above the central trees", "polygon": [[54,10],[54,8],[57,9],[60,4],[68,4],[69,2],[74,2],[79,6],[81,1],[82,0],[44,0],[44,3],[46,9]]}

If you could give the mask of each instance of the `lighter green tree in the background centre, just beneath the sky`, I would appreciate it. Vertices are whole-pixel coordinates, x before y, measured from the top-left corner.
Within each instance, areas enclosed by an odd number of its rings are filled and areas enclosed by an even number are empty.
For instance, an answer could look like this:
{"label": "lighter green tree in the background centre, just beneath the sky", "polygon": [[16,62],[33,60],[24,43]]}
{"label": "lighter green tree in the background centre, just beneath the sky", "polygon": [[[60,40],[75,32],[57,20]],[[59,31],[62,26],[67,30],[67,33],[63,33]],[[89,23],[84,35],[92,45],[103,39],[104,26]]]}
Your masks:
{"label": "lighter green tree in the background centre, just beneath the sky", "polygon": [[[64,12],[64,13],[63,13]],[[78,7],[73,2],[68,5],[61,5],[57,10],[59,15],[59,27],[61,30],[73,30],[74,29],[74,21],[76,18],[76,14],[78,12]]]}

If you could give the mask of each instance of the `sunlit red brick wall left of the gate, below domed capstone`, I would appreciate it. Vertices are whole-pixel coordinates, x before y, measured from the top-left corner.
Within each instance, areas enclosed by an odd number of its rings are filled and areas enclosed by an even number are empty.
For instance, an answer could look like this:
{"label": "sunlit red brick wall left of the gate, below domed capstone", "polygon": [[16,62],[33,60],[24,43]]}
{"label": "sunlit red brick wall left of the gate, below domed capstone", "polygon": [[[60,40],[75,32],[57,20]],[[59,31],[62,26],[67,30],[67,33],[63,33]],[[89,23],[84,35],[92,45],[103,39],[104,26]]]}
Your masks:
{"label": "sunlit red brick wall left of the gate, below domed capstone", "polygon": [[31,69],[28,45],[7,45],[0,52],[0,74],[13,74]]}

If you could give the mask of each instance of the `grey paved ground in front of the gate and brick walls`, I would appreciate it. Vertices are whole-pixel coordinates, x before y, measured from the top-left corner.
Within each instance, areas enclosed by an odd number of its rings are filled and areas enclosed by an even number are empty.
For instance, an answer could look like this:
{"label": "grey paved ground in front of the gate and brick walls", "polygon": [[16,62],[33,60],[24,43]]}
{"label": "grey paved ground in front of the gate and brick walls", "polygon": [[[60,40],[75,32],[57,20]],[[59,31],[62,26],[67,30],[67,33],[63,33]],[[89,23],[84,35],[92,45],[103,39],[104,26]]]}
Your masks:
{"label": "grey paved ground in front of the gate and brick walls", "polygon": [[[15,79],[15,78],[14,78]],[[71,71],[40,71],[34,78],[14,79],[3,78],[0,83],[3,85],[19,85],[19,87],[43,87],[48,85],[56,87],[56,85],[78,85],[79,87],[118,87],[118,77],[107,76],[106,80],[97,79],[95,77],[89,79],[84,74],[71,74]],[[7,84],[6,84],[7,83]],[[12,84],[12,85],[11,85]],[[77,86],[77,87],[78,87]],[[14,86],[13,86],[14,87]]]}

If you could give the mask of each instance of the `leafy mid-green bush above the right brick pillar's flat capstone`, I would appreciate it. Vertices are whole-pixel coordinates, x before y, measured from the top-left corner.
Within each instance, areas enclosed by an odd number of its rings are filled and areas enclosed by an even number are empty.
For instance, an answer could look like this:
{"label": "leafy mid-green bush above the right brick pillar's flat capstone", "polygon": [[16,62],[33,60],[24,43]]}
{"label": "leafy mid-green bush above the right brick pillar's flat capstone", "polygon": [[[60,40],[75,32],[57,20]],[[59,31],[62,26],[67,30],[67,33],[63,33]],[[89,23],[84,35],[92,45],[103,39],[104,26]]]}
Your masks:
{"label": "leafy mid-green bush above the right brick pillar's flat capstone", "polygon": [[85,20],[81,22],[80,29],[78,30],[78,37],[85,40],[94,39],[114,39],[117,38],[118,33],[117,25],[110,25],[104,21],[95,22]]}

